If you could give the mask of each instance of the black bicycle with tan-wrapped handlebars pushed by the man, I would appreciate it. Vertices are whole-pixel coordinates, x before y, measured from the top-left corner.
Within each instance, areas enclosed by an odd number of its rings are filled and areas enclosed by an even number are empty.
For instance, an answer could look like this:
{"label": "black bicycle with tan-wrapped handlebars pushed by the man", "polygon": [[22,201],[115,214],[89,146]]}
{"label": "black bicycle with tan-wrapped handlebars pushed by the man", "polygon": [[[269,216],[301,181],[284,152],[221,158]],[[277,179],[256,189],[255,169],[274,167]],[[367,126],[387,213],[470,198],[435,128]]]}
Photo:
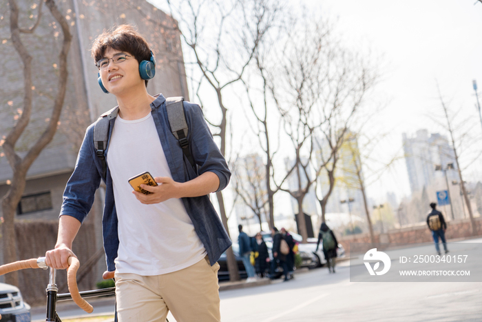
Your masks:
{"label": "black bicycle with tan-wrapped handlebars pushed by the man", "polygon": [[[79,308],[87,313],[92,313],[94,308],[90,305],[84,298],[98,297],[105,295],[115,295],[116,288],[103,288],[100,290],[90,290],[78,292],[78,286],[76,281],[77,270],[80,263],[76,257],[70,256],[68,259],[69,268],[67,268],[67,288],[70,293],[57,294],[59,289],[55,283],[56,270],[50,268],[49,272],[49,283],[45,292],[47,292],[47,316],[45,318],[46,322],[62,322],[59,315],[56,312],[57,301],[67,301],[72,299],[74,303],[78,305]],[[16,261],[14,263],[9,263],[0,266],[0,275],[14,272],[17,270],[23,270],[25,268],[42,268],[47,270],[49,267],[45,264],[45,257],[39,257],[38,259],[26,259],[23,261]],[[83,296],[83,297],[82,297]],[[1,319],[1,316],[0,316]],[[114,321],[117,321],[117,316],[115,315]]]}

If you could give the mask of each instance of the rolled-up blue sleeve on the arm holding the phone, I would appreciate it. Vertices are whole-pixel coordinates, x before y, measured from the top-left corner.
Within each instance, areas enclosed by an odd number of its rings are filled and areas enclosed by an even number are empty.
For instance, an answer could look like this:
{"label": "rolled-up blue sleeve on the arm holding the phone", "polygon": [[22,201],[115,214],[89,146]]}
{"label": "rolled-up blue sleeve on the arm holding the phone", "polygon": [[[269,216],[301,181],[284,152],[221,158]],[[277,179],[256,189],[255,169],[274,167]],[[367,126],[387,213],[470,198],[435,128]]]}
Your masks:
{"label": "rolled-up blue sleeve on the arm holding the phone", "polygon": [[223,190],[229,183],[231,172],[218,145],[213,140],[202,110],[197,104],[185,102],[185,112],[189,123],[188,137],[191,141],[191,152],[198,165],[198,172],[199,174],[208,171],[215,173],[219,178],[219,187],[216,192]]}

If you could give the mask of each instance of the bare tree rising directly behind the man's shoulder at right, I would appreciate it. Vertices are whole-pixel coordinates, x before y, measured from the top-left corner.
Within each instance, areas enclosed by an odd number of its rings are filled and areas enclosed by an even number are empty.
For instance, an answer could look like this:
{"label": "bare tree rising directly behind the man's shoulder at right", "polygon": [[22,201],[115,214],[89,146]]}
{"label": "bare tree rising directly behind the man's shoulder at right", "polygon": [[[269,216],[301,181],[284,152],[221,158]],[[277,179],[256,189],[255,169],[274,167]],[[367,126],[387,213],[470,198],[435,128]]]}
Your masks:
{"label": "bare tree rising directly behind the man's shoulder at right", "polygon": [[[209,97],[211,93],[218,101],[220,118],[209,123],[217,130],[213,135],[220,139],[220,151],[223,155],[226,155],[228,139],[228,108],[224,103],[223,93],[233,83],[240,81],[253,59],[258,43],[271,28],[272,14],[276,6],[272,6],[270,2],[231,0],[221,3],[215,0],[183,0],[174,3],[167,0],[171,12],[179,21],[182,39],[191,50],[190,57],[200,74],[196,96],[202,107],[203,98]],[[209,33],[205,32],[207,29]],[[250,50],[239,50],[246,47]],[[216,192],[216,197],[222,223],[229,234],[222,192]],[[230,280],[238,281],[240,277],[231,248],[227,251],[227,263]]]}

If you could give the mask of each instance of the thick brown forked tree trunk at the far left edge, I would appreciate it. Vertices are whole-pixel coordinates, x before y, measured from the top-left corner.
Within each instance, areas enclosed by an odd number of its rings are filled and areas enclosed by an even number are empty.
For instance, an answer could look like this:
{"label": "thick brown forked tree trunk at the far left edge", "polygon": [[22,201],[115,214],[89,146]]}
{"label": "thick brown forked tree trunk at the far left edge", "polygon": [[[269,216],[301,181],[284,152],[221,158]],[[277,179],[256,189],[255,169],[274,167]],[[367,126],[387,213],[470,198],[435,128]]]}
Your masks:
{"label": "thick brown forked tree trunk at the far left edge", "polygon": [[[8,132],[4,141],[2,141],[3,151],[5,151],[8,163],[13,171],[13,178],[10,184],[8,192],[2,199],[2,211],[5,222],[2,225],[3,228],[3,261],[4,263],[10,263],[17,260],[16,254],[16,240],[14,230],[14,216],[15,210],[23,191],[25,190],[25,178],[30,168],[30,165],[39,156],[40,152],[45,148],[57,130],[59,119],[61,116],[61,110],[63,107],[63,101],[65,99],[65,92],[67,88],[67,54],[70,49],[70,43],[72,41],[72,34],[70,34],[70,28],[67,24],[65,17],[59,11],[54,0],[45,0],[45,5],[50,10],[50,13],[54,17],[57,23],[59,23],[63,41],[61,46],[61,52],[59,53],[59,78],[57,85],[57,93],[52,106],[52,112],[45,125],[45,130],[32,145],[28,148],[28,151],[23,157],[16,151],[16,145],[19,142],[23,132],[30,123],[30,117],[32,115],[33,106],[33,88],[32,82],[32,56],[22,41],[21,34],[32,34],[39,26],[42,17],[42,4],[44,1],[39,1],[39,10],[37,14],[36,22],[34,26],[24,29],[19,26],[19,6],[16,0],[9,0],[8,6],[10,7],[10,33],[13,46],[21,61],[23,63],[23,103],[19,107],[22,112],[14,124],[13,128]],[[6,282],[14,285],[18,285],[18,275],[9,274],[6,276]]]}

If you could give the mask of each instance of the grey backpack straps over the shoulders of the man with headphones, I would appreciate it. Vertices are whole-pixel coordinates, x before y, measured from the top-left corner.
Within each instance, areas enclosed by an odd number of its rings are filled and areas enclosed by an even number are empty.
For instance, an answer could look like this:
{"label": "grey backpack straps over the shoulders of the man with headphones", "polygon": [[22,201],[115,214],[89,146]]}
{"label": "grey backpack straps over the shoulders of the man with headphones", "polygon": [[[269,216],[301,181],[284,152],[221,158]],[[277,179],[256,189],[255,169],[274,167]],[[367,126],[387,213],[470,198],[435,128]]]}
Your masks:
{"label": "grey backpack straps over the shoulders of the man with headphones", "polygon": [[[196,170],[196,164],[194,163],[191,149],[189,148],[189,140],[187,139],[189,128],[187,127],[183,102],[183,97],[168,97],[166,99],[167,119],[169,120],[169,127],[171,128],[172,134],[179,141],[182,153],[184,153],[189,163],[191,163],[191,166]],[[105,162],[104,151],[105,148],[107,148],[107,141],[109,139],[109,125],[110,120],[113,118],[112,112],[117,108],[118,107],[113,108],[102,114],[94,126],[94,147],[98,159],[101,159],[103,178],[107,175],[107,163]]]}

